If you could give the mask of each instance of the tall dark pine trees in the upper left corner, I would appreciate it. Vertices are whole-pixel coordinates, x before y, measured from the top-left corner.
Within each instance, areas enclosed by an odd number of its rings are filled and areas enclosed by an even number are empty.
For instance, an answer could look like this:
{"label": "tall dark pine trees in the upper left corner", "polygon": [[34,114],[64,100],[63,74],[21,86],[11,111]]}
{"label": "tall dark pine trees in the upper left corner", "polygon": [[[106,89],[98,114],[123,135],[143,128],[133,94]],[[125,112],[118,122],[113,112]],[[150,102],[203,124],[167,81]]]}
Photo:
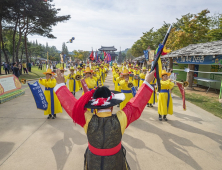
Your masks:
{"label": "tall dark pine trees in the upper left corner", "polygon": [[[56,9],[52,3],[53,0],[2,0],[0,4],[0,44],[4,52],[3,30],[12,31],[10,38],[10,54],[13,56],[13,62],[18,62],[20,46],[24,45],[26,60],[28,62],[28,35],[40,35],[48,38],[56,38],[52,32],[52,27],[57,23],[70,19],[69,15],[58,16],[60,9]],[[24,43],[22,43],[22,41]],[[37,44],[37,43],[36,43]],[[22,48],[23,49],[23,48]],[[1,50],[1,48],[0,48]],[[32,49],[33,50],[33,49]],[[0,53],[1,54],[1,53]],[[6,52],[4,52],[7,61]]]}

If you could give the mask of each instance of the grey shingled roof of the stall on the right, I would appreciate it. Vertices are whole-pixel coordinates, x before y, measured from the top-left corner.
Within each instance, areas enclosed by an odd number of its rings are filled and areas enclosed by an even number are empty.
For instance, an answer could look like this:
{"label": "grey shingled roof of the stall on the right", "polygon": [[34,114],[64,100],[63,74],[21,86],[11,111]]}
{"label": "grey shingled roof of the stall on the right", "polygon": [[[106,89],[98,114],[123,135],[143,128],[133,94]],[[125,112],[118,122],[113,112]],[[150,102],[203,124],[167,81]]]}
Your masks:
{"label": "grey shingled roof of the stall on the right", "polygon": [[161,58],[179,57],[179,56],[207,56],[207,55],[222,55],[222,40],[190,44],[187,47],[173,51]]}

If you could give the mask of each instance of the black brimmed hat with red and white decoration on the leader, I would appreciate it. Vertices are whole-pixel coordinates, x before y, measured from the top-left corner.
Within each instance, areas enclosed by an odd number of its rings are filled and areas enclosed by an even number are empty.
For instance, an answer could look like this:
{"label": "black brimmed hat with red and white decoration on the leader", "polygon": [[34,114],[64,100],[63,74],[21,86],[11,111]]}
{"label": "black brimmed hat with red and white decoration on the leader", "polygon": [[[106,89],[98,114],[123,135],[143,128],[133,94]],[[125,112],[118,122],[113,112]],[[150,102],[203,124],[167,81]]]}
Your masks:
{"label": "black brimmed hat with red and white decoration on the leader", "polygon": [[85,105],[90,109],[105,109],[115,106],[125,100],[124,93],[110,91],[107,87],[97,87],[92,99]]}

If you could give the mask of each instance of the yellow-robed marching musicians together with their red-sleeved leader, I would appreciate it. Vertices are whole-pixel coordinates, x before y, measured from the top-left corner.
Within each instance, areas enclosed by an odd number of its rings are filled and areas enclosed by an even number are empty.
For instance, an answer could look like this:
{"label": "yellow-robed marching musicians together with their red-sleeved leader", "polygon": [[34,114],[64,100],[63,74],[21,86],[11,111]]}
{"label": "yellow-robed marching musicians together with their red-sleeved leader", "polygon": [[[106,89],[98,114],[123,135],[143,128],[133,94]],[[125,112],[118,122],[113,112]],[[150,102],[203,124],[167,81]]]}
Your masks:
{"label": "yellow-robed marching musicians together with their red-sleeved leader", "polygon": [[[158,103],[159,121],[167,121],[167,115],[173,114],[171,89],[174,83],[169,80],[171,73],[162,70],[161,90],[157,99],[157,86],[154,77],[146,67],[113,63],[82,64],[70,67],[70,73],[64,75],[64,68],[51,69],[43,74],[39,83],[45,86],[48,108],[44,111],[47,119],[55,119],[62,113],[62,107],[74,123],[84,128],[88,138],[88,147],[84,155],[84,169],[129,170],[126,150],[121,144],[122,135],[128,126],[142,114],[145,106],[153,107]],[[112,70],[114,90],[104,86],[108,72]],[[67,81],[69,82],[67,83]],[[85,84],[82,83],[84,80]],[[84,91],[84,87],[88,91]],[[75,98],[82,90],[82,96]],[[113,106],[120,110],[113,112]]]}

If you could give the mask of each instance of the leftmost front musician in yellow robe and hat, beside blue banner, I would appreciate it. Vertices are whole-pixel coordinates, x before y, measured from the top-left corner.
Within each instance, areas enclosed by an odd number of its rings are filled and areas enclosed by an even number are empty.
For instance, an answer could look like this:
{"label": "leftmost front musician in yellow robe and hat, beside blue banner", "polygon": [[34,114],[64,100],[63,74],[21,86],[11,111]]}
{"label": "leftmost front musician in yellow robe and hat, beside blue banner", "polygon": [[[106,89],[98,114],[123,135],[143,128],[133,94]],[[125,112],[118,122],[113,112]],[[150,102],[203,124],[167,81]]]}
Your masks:
{"label": "leftmost front musician in yellow robe and hat, beside blue banner", "polygon": [[53,73],[51,69],[47,69],[43,74],[46,75],[46,79],[40,78],[39,83],[45,86],[44,95],[48,102],[48,108],[44,111],[44,115],[48,115],[47,119],[50,119],[51,117],[52,119],[55,119],[57,113],[62,113],[61,104],[53,90],[56,86],[56,79],[53,79],[52,75],[55,75],[55,73]]}

